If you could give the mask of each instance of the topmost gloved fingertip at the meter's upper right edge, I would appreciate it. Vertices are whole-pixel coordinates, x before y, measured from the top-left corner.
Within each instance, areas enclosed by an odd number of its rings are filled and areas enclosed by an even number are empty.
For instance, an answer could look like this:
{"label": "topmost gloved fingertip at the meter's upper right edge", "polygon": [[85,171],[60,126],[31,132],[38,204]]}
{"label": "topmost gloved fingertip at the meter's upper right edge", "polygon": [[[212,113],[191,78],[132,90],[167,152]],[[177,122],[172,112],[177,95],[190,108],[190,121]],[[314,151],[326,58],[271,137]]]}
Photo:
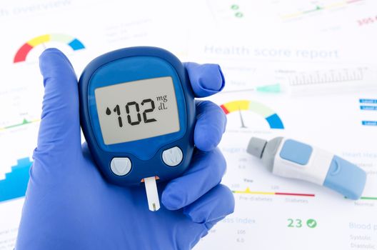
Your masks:
{"label": "topmost gloved fingertip at the meter's upper right edge", "polygon": [[184,63],[196,97],[216,94],[225,86],[223,72],[218,64]]}

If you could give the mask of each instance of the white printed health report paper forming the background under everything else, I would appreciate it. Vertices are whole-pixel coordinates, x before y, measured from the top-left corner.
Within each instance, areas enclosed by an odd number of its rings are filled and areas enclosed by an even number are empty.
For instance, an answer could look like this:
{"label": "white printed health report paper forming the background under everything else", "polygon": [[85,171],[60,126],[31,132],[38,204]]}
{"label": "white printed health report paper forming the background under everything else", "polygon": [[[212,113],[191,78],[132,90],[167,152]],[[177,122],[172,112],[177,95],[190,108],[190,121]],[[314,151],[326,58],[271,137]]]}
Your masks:
{"label": "white printed health report paper forming the background under everything else", "polygon": [[[226,87],[209,98],[216,104],[258,102],[283,124],[271,128],[262,111],[227,114],[223,183],[234,191],[236,211],[195,249],[376,249],[377,103],[363,101],[377,100],[376,10],[372,0],[6,1],[0,6],[0,186],[18,181],[12,166],[32,161],[44,48],[64,51],[79,75],[106,51],[161,46],[182,61],[221,65]],[[26,41],[44,34],[72,36],[85,49],[49,41],[14,63]],[[368,173],[364,199],[271,175],[246,154],[251,136],[288,136],[353,161]],[[3,198],[0,249],[8,250],[23,199]]]}

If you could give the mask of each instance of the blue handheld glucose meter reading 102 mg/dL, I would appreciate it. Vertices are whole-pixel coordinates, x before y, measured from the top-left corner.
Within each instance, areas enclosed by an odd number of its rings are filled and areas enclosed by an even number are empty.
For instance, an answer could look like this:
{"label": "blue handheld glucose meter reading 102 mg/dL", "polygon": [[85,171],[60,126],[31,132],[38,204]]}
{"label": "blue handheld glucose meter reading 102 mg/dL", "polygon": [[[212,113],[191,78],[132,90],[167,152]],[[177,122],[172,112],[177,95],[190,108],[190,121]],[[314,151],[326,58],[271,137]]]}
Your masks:
{"label": "blue handheld glucose meter reading 102 mg/dL", "polygon": [[[174,94],[164,95],[164,89]],[[109,182],[129,186],[151,176],[166,181],[187,169],[194,97],[184,65],[169,51],[130,47],[97,57],[81,74],[79,99],[89,150]]]}

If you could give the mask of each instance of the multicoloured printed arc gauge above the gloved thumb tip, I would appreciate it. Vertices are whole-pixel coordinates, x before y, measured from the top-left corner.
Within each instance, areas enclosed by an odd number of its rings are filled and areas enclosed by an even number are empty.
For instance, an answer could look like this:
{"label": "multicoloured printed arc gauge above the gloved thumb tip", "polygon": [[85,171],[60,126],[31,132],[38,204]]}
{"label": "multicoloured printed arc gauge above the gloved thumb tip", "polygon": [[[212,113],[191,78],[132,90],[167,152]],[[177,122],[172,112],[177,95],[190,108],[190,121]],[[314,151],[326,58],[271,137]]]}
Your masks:
{"label": "multicoloured printed arc gauge above the gloved thumb tip", "polygon": [[33,39],[27,41],[24,45],[22,45],[17,51],[16,55],[14,56],[13,62],[16,64],[21,61],[26,61],[26,56],[29,54],[31,49],[33,49],[35,46],[45,44],[49,41],[57,41],[62,44],[67,44],[74,51],[79,49],[85,49],[84,44],[79,39],[76,39],[73,36],[69,36],[66,34],[45,34],[42,36],[36,36]]}

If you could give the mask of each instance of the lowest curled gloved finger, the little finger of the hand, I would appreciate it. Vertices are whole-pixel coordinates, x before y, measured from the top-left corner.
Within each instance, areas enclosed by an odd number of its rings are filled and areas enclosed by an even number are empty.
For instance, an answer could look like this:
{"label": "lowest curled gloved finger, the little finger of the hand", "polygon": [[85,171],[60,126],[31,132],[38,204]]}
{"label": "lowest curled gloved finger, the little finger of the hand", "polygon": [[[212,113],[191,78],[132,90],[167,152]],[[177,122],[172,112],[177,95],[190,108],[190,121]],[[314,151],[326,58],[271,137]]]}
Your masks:
{"label": "lowest curled gloved finger, the little finger of the hand", "polygon": [[227,186],[218,184],[197,201],[184,208],[193,222],[206,224],[207,229],[234,211],[234,197]]}

